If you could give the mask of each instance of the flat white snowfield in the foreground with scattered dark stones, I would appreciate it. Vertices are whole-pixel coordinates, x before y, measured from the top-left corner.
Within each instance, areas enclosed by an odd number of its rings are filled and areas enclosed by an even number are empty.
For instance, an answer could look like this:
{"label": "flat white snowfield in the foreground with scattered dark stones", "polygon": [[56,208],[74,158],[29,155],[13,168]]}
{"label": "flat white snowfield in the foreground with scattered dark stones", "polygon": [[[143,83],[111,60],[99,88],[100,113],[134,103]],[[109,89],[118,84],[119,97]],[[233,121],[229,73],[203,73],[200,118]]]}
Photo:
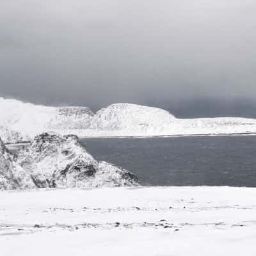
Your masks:
{"label": "flat white snowfield in the foreground with scattered dark stones", "polygon": [[255,255],[256,188],[0,193],[1,255]]}

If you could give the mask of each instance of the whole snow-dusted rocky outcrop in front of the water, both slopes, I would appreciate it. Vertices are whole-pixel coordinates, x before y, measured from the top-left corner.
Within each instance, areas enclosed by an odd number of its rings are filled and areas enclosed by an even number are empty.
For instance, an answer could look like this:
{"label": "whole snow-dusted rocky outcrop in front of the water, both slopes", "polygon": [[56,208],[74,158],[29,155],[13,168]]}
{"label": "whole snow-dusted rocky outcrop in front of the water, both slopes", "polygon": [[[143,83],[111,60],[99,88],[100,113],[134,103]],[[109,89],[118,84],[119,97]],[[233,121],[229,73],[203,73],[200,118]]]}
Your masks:
{"label": "whole snow-dusted rocky outcrop in front of the water, both slopes", "polygon": [[131,172],[97,162],[75,135],[40,134],[17,156],[0,139],[0,189],[138,186]]}

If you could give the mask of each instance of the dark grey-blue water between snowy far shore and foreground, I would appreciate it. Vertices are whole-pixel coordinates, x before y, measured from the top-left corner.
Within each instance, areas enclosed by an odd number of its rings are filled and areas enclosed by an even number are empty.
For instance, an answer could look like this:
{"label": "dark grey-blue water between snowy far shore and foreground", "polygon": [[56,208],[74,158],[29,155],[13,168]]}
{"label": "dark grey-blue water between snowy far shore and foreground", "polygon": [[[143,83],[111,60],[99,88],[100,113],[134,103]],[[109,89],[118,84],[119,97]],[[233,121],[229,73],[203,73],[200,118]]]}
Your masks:
{"label": "dark grey-blue water between snowy far shore and foreground", "polygon": [[84,139],[98,160],[152,186],[256,187],[256,136]]}

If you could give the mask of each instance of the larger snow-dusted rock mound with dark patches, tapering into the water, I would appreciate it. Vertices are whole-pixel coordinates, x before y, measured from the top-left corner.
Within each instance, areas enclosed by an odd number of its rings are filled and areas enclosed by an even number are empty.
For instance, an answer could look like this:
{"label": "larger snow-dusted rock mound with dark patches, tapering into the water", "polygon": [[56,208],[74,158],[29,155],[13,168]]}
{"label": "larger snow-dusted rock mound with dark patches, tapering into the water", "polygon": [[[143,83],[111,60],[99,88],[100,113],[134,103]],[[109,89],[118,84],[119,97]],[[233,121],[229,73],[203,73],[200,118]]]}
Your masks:
{"label": "larger snow-dusted rock mound with dark patches, tapering into the water", "polygon": [[98,163],[74,135],[40,134],[21,150],[17,163],[31,174],[38,188],[138,185],[132,173]]}

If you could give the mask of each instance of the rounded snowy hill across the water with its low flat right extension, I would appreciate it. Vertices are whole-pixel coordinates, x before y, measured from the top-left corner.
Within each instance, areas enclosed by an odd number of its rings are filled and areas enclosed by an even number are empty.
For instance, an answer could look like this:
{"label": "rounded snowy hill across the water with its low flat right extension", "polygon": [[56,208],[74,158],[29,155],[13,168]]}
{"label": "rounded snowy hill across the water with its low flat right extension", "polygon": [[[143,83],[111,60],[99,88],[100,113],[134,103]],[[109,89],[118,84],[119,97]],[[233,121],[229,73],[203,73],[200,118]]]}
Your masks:
{"label": "rounded snowy hill across the water with its low flat right extension", "polygon": [[96,134],[101,136],[256,132],[255,119],[234,117],[180,119],[163,109],[134,104],[113,104],[108,108],[100,109],[93,116],[91,126],[97,131]]}

